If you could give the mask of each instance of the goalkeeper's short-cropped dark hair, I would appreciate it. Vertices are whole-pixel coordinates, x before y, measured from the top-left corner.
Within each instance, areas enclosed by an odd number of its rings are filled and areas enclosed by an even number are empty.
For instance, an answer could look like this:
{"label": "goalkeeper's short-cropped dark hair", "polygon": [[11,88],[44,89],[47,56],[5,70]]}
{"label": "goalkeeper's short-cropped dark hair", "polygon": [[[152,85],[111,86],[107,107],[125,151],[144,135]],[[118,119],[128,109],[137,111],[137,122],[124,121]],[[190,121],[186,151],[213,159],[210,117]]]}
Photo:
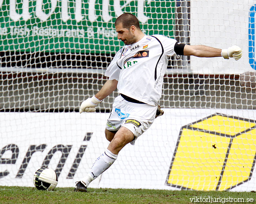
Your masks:
{"label": "goalkeeper's short-cropped dark hair", "polygon": [[115,22],[115,26],[119,23],[122,23],[122,26],[128,30],[130,29],[131,26],[135,26],[136,28],[138,28],[140,30],[139,20],[133,14],[124,13],[124,14],[118,16],[118,18],[116,19],[116,22]]}

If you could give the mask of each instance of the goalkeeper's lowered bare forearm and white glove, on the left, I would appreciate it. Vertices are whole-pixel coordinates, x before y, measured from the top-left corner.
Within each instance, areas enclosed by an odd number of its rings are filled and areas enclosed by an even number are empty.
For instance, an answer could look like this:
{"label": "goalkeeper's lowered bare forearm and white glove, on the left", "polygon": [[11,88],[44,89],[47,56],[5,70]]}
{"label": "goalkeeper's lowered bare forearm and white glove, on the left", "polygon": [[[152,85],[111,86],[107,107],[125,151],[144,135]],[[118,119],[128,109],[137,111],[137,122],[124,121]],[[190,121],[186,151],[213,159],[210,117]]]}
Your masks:
{"label": "goalkeeper's lowered bare forearm and white glove, on the left", "polygon": [[106,83],[97,94],[91,98],[87,98],[81,103],[79,112],[95,112],[95,107],[101,103],[104,98],[116,90],[117,83],[118,81],[115,79],[106,81]]}

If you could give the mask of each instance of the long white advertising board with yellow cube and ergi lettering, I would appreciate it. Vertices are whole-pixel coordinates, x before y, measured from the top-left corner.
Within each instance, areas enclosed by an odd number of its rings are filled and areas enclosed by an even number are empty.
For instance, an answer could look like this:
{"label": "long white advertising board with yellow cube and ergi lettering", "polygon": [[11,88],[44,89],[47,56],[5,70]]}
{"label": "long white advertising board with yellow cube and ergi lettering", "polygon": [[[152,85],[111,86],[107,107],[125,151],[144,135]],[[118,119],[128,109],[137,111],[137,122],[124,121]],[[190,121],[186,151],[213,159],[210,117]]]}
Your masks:
{"label": "long white advertising board with yellow cube and ergi lettering", "polygon": [[[108,147],[109,113],[0,113],[0,185],[42,165],[73,187]],[[256,110],[165,109],[91,188],[256,190]],[[238,148],[239,147],[239,148]]]}

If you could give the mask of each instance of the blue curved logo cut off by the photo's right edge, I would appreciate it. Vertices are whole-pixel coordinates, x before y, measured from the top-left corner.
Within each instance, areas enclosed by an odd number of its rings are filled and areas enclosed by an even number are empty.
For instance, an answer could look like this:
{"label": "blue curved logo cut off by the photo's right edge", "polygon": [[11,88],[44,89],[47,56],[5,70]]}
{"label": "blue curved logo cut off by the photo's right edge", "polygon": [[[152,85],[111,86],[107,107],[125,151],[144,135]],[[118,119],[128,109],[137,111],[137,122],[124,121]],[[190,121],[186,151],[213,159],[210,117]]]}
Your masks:
{"label": "blue curved logo cut off by the photo's right edge", "polygon": [[249,12],[249,64],[256,69],[255,61],[255,13],[256,5],[253,5]]}

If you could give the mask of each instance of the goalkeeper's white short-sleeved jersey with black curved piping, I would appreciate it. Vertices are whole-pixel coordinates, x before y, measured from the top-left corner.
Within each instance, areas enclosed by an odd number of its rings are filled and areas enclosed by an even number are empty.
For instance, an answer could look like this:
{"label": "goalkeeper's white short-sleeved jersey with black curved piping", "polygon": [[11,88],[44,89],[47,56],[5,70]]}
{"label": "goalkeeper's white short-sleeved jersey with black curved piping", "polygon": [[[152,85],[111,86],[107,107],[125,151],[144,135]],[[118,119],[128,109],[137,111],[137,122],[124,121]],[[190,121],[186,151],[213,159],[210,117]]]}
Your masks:
{"label": "goalkeeper's white short-sleeved jersey with black curved piping", "polygon": [[121,94],[155,106],[161,98],[168,59],[176,54],[176,42],[163,35],[145,35],[116,53],[105,76],[118,81]]}

